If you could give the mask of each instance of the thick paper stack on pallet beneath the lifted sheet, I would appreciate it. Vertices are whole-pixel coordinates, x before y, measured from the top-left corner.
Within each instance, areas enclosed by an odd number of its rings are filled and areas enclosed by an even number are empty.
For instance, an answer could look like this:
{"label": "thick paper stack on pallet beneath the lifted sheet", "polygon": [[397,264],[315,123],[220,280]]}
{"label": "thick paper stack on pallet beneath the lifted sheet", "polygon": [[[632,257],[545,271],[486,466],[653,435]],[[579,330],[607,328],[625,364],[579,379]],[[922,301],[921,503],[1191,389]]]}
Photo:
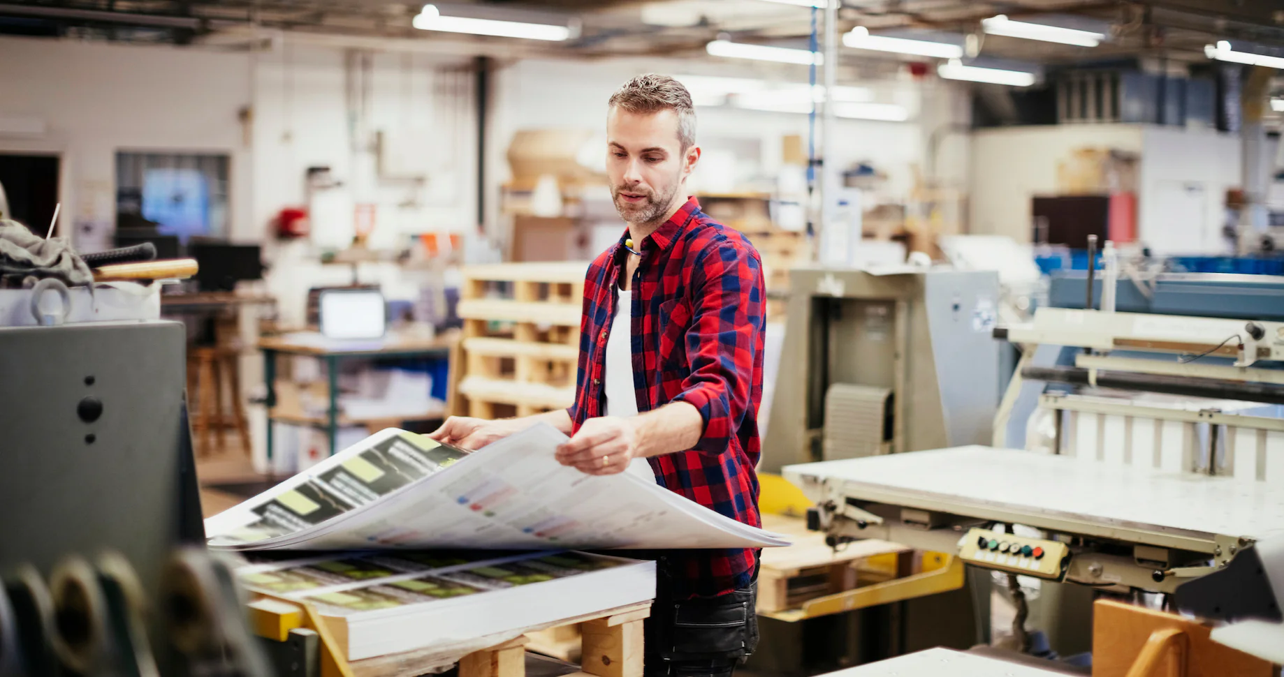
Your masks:
{"label": "thick paper stack on pallet beneath the lifted sheet", "polygon": [[584,553],[250,555],[236,574],[252,590],[312,604],[348,660],[465,644],[655,596],[654,562]]}

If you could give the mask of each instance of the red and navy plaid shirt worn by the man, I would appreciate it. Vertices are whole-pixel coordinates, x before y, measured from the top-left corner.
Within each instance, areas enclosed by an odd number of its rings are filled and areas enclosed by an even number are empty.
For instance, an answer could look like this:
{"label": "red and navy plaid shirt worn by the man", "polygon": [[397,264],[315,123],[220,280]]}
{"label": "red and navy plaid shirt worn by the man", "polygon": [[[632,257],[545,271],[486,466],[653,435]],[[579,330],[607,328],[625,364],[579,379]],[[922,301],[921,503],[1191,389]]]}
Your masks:
{"label": "red and navy plaid shirt worn by the man", "polygon": [[[628,233],[625,232],[625,236]],[[625,271],[620,242],[597,256],[584,283],[574,430],[602,415],[606,338]],[[633,387],[638,412],[686,401],[705,432],[691,450],[651,456],[660,483],[746,524],[758,513],[758,405],[763,396],[763,262],[740,232],[724,228],[692,197],[651,236],[633,291]],[[668,553],[675,594],[711,596],[749,585],[755,550]]]}

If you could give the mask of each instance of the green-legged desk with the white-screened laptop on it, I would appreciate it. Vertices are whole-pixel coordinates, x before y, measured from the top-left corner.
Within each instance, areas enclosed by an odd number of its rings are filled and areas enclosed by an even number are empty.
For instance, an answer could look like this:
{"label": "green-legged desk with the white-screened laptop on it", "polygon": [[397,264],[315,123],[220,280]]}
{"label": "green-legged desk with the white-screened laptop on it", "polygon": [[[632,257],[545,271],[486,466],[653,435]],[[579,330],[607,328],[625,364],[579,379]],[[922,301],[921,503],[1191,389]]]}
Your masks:
{"label": "green-legged desk with the white-screened laptop on it", "polygon": [[[298,332],[262,338],[258,349],[263,351],[263,380],[267,382],[267,458],[272,459],[272,422],[284,421],[311,426],[325,426],[330,440],[330,454],[335,453],[335,440],[339,423],[354,421],[339,417],[339,362],[347,358],[444,358],[457,341],[455,333],[426,338],[415,335],[389,333],[384,338],[371,341],[335,341],[320,332]],[[276,356],[307,355],[325,360],[329,378],[329,408],[326,417],[309,417],[303,412],[275,412],[276,406]]]}

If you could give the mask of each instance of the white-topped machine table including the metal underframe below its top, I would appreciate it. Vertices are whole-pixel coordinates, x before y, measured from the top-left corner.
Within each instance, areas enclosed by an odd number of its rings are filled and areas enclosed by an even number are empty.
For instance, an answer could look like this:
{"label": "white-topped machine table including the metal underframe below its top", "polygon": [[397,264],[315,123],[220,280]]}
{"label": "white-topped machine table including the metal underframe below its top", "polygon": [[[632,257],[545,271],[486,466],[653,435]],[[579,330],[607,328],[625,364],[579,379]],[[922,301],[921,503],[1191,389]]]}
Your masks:
{"label": "white-topped machine table including the metal underframe below its top", "polygon": [[[844,518],[850,536],[942,551],[958,547],[966,533],[951,524],[998,522],[1149,551],[1189,553],[1198,556],[1186,560],[1203,558],[1216,567],[1249,542],[1284,535],[1284,489],[1091,458],[964,446],[791,465],[785,476],[836,514],[856,513]],[[918,514],[913,519],[932,521],[939,528],[862,518],[863,506],[896,506],[901,522]],[[1066,577],[1171,592],[1181,578],[1212,571],[1174,564],[1165,578],[1156,578],[1163,568],[1143,567],[1130,556],[1076,551]]]}

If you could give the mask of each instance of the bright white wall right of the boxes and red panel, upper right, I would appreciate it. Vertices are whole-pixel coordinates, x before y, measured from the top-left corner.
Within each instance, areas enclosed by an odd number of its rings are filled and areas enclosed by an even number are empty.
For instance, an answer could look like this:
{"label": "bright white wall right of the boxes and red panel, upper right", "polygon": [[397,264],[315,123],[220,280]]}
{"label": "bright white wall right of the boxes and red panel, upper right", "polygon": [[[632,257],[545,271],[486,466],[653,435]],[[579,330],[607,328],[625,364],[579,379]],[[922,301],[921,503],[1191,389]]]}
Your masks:
{"label": "bright white wall right of the boxes and red panel, upper right", "polygon": [[1231,253],[1221,236],[1226,190],[1243,174],[1239,135],[1147,127],[1138,237],[1156,254]]}

